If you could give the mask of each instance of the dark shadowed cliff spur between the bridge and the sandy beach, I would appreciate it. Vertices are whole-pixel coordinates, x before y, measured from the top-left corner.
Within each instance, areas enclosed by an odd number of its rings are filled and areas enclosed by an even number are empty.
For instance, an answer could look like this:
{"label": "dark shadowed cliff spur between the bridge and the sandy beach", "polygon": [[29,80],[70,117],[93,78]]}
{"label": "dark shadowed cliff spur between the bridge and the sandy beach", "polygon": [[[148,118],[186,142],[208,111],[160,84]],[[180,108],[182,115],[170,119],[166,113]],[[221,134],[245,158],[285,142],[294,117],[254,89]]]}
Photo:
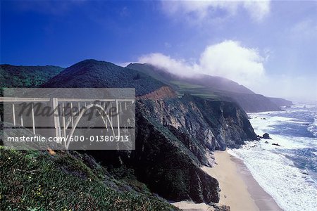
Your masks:
{"label": "dark shadowed cliff spur between the bridge and the sandy beach", "polygon": [[199,159],[182,143],[182,137],[139,112],[136,135],[136,149],[128,162],[151,191],[173,201],[218,203],[218,181],[201,170]]}

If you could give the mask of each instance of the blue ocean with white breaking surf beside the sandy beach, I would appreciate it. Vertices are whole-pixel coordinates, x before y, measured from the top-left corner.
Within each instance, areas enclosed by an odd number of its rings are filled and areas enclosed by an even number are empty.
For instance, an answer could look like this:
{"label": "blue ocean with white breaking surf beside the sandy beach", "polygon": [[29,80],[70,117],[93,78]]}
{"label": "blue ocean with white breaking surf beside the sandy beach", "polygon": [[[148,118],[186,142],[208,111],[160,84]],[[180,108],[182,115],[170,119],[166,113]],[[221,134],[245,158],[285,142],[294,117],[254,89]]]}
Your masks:
{"label": "blue ocean with white breaking surf beside the sandy beach", "polygon": [[283,210],[317,210],[317,106],[282,109],[249,113],[256,134],[268,133],[272,139],[250,141],[228,152],[244,161]]}

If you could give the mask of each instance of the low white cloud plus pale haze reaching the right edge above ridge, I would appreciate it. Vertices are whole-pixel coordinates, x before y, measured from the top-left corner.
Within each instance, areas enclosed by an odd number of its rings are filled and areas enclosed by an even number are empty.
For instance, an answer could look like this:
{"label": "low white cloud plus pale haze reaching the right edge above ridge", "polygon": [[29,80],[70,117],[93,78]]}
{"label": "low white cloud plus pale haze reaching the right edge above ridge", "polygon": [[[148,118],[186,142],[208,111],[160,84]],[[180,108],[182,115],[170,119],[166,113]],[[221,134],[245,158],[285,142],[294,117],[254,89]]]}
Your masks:
{"label": "low white cloud plus pale haze reaching the right edge above ridge", "polygon": [[150,53],[139,58],[139,63],[151,63],[169,72],[186,77],[197,73],[226,77],[265,96],[283,97],[295,101],[317,99],[316,75],[268,75],[264,63],[269,49],[242,46],[239,41],[227,40],[207,46],[197,62],[175,59],[162,53]]}

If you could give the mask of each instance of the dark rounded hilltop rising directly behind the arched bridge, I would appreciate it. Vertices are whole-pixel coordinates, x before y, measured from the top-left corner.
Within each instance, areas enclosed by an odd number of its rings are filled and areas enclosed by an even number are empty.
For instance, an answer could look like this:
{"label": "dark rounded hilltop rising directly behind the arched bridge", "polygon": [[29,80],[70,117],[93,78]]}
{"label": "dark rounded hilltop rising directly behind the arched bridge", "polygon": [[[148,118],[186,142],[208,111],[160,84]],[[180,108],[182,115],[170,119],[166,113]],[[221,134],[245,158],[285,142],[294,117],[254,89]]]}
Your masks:
{"label": "dark rounded hilltop rising directly behind the arched bridge", "polygon": [[135,88],[137,96],[163,86],[163,82],[137,70],[99,60],[82,60],[43,84],[44,88]]}

